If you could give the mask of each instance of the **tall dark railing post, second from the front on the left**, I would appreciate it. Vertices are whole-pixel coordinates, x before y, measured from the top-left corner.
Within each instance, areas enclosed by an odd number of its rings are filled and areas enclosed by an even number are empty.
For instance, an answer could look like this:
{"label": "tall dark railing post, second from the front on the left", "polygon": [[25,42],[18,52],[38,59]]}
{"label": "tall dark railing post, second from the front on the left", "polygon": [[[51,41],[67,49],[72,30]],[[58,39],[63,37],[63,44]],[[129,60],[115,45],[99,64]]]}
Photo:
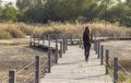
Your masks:
{"label": "tall dark railing post, second from the front on the left", "polygon": [[35,63],[35,83],[39,83],[39,56],[36,56],[36,63]]}

